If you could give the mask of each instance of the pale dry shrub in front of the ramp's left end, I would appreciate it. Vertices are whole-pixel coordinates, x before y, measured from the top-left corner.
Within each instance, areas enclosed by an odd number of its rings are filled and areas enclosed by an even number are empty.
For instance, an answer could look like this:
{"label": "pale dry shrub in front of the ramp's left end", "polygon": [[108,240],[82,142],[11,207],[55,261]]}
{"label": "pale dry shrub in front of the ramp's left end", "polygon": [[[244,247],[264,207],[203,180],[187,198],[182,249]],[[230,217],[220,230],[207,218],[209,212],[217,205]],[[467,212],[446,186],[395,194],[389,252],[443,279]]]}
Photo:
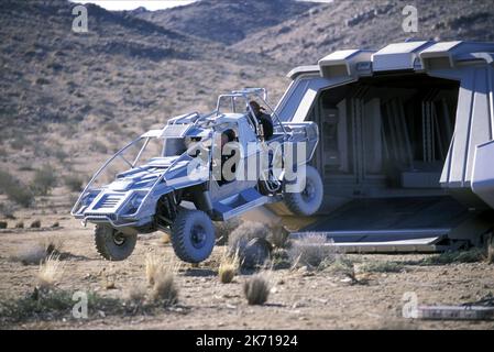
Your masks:
{"label": "pale dry shrub in front of the ramp's left end", "polygon": [[294,266],[319,267],[321,263],[328,264],[334,261],[337,252],[326,235],[308,233],[292,243],[288,255]]}

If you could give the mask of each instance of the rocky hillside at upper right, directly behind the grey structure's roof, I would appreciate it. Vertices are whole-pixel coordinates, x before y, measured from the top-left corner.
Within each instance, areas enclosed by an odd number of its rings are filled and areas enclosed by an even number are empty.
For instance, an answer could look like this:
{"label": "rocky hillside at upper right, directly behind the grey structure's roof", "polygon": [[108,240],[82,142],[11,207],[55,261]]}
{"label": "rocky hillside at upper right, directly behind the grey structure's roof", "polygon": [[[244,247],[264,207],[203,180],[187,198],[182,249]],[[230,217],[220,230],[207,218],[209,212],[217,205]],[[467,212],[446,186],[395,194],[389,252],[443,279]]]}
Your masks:
{"label": "rocky hillside at upper right, directly behind the grey structure's roof", "polygon": [[[418,33],[405,33],[402,10],[418,10]],[[381,48],[406,38],[494,41],[491,0],[336,0],[314,8],[233,45],[290,65],[315,64],[344,48]]]}

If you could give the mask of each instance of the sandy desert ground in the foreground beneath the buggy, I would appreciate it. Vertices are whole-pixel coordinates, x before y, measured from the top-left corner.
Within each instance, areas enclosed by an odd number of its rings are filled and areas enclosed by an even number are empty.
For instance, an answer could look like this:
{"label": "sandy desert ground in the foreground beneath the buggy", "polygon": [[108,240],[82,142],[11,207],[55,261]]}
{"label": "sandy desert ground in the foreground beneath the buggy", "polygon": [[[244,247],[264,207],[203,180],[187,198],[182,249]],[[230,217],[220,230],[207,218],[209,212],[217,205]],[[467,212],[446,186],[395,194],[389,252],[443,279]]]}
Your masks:
{"label": "sandy desert ground in the foreground beneath the buggy", "polygon": [[[0,230],[0,324],[3,329],[493,329],[494,321],[425,321],[402,317],[407,292],[419,305],[476,301],[493,294],[494,265],[483,260],[437,261],[437,254],[345,254],[354,275],[342,271],[271,265],[262,268],[270,284],[267,301],[248,305],[243,284],[254,274],[243,272],[229,284],[218,278],[224,245],[206,262],[182,263],[158,232],[140,235],[134,253],[123,262],[108,262],[94,248],[92,227],[84,228],[69,215],[69,197],[55,188],[44,202],[19,210]],[[40,228],[30,228],[34,219]],[[15,223],[24,222],[24,229]],[[53,226],[56,227],[53,227]],[[156,309],[88,306],[87,319],[75,319],[70,308],[58,311],[17,312],[6,302],[30,297],[37,285],[40,265],[19,262],[22,253],[39,243],[59,242],[62,275],[55,292],[84,290],[116,298],[125,305],[130,292],[149,290],[146,253],[154,253],[175,267],[178,300]],[[22,255],[21,255],[22,256]],[[435,260],[436,258],[436,260]],[[462,263],[463,262],[463,263]],[[19,305],[19,307],[21,307]],[[15,308],[25,309],[25,308]]]}

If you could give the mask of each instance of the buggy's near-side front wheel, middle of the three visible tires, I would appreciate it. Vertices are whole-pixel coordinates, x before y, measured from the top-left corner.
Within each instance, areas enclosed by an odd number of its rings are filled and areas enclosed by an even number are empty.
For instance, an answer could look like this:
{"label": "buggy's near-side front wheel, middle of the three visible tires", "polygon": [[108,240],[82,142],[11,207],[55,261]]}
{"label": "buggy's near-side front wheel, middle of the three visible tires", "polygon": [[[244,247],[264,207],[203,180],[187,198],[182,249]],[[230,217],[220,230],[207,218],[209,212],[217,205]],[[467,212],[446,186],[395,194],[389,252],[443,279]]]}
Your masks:
{"label": "buggy's near-side front wheel, middle of the three visible tires", "polygon": [[187,263],[200,263],[209,257],[216,235],[211,219],[200,210],[183,209],[172,224],[175,254]]}

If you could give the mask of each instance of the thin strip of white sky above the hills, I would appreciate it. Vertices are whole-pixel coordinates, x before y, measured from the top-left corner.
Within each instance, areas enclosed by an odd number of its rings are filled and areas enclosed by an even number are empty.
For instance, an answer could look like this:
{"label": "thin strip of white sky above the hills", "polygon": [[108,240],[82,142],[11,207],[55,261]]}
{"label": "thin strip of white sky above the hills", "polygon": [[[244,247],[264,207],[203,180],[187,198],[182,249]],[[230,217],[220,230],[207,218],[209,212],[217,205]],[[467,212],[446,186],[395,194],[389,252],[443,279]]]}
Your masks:
{"label": "thin strip of white sky above the hills", "polygon": [[[110,11],[134,10],[141,7],[150,11],[155,11],[161,9],[189,4],[196,0],[70,0],[70,1],[80,3],[92,2]],[[303,1],[331,2],[332,0],[303,0]]]}

